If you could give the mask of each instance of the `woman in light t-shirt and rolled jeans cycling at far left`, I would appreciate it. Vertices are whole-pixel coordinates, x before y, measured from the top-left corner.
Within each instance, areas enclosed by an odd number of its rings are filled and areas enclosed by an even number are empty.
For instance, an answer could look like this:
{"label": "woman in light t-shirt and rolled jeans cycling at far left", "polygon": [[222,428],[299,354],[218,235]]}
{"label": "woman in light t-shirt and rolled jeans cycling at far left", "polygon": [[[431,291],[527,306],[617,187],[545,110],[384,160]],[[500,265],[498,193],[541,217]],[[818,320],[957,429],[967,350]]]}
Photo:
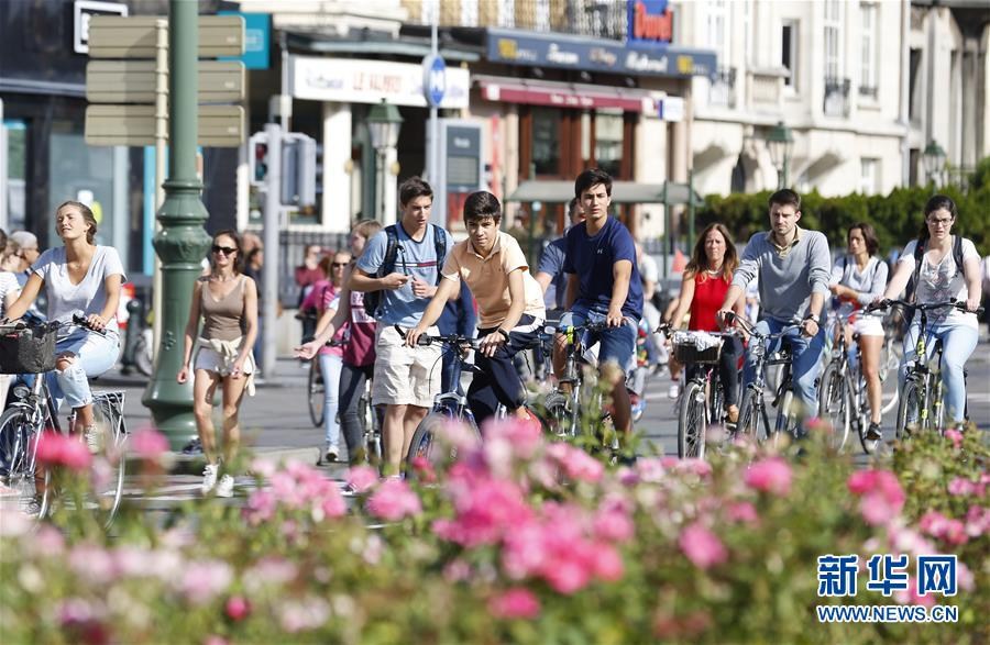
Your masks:
{"label": "woman in light t-shirt and rolled jeans cycling at far left", "polygon": [[89,449],[97,453],[103,447],[103,437],[94,423],[89,378],[106,372],[120,358],[117,308],[125,276],[117,249],[95,244],[97,221],[86,204],[63,202],[55,210],[55,232],[63,246],[38,256],[21,296],[6,315],[20,319],[44,288],[50,321],[72,323],[76,315],[86,319],[86,326],[59,330],[55,371],[48,385],[56,401],[64,399],[76,411],[76,425],[70,432],[85,435]]}

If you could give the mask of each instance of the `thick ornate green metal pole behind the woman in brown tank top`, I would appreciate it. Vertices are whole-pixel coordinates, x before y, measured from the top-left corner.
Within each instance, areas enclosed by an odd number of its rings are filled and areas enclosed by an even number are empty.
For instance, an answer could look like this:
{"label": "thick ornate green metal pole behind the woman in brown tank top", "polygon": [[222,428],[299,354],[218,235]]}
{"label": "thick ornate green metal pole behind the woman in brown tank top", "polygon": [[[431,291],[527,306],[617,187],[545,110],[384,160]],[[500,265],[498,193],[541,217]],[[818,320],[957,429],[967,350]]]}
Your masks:
{"label": "thick ornate green metal pole behind the woman in brown tank top", "polygon": [[210,245],[202,225],[207,210],[200,200],[202,184],[196,177],[197,54],[199,16],[197,2],[172,0],[168,25],[168,179],[165,201],[158,210],[162,230],[154,246],[162,260],[162,342],[155,374],[141,402],[172,447],[180,447],[196,435],[193,418],[193,383],[179,385],[175,377],[183,367],[184,336],[189,318],[193,285],[201,271],[200,262]]}

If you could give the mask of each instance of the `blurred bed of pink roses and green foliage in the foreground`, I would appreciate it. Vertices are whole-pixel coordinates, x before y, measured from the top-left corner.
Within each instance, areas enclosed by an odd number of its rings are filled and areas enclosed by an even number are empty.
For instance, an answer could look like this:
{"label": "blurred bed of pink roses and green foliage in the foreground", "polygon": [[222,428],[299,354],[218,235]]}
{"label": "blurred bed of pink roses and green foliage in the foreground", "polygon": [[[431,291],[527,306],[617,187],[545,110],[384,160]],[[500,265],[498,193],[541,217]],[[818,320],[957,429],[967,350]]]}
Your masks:
{"label": "blurred bed of pink roses and green foliage in the foreground", "polygon": [[[714,464],[606,467],[528,425],[421,464],[348,511],[300,464],[255,466],[243,508],[125,508],[113,535],[4,516],[4,643],[642,643],[990,641],[990,453],[917,437],[854,470],[814,436]],[[153,437],[134,437],[142,446]],[[144,449],[155,474],[155,451]],[[891,468],[891,469],[888,469]],[[421,482],[421,483],[417,483]],[[384,526],[381,524],[384,523]],[[873,554],[957,554],[958,593],[867,591]],[[817,558],[856,554],[859,593],[820,598]],[[950,624],[820,623],[816,605],[950,604]]]}

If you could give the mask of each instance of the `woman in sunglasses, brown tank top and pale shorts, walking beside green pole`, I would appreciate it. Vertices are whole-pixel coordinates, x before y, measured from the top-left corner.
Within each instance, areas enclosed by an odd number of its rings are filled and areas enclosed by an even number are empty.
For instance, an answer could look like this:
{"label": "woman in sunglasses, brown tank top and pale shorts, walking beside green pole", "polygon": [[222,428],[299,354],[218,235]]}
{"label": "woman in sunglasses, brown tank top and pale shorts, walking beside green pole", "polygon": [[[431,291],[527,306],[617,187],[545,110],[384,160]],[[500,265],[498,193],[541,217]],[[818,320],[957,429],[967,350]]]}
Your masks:
{"label": "woman in sunglasses, brown tank top and pale shorts, walking beside green pole", "polygon": [[[207,459],[201,490],[232,497],[230,472],[241,440],[238,414],[244,392],[254,394],[256,372],[251,347],[257,335],[257,291],[254,280],[241,273],[241,240],[235,231],[220,231],[210,247],[210,274],[193,288],[186,324],[183,367],[176,381],[189,380],[193,371],[193,414]],[[202,319],[202,330],[199,321]],[[194,346],[198,346],[195,360]],[[213,429],[213,394],[222,392],[222,457],[217,454]],[[221,467],[226,471],[221,472]],[[218,482],[219,477],[219,482]]]}

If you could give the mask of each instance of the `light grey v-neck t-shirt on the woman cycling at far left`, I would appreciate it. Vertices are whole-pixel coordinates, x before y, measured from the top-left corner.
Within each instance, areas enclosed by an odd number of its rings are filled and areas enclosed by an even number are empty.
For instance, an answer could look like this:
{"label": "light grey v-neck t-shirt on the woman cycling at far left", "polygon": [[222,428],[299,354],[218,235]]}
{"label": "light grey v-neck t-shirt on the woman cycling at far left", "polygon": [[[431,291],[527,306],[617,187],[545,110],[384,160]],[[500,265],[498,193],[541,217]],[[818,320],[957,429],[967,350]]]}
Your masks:
{"label": "light grey v-neck t-shirt on the woman cycling at far left", "polygon": [[[110,276],[120,276],[127,280],[123,265],[117,249],[112,246],[97,246],[89,263],[86,277],[78,285],[73,285],[65,262],[65,247],[56,246],[44,252],[31,268],[45,281],[48,297],[48,320],[72,322],[74,314],[89,315],[102,313],[107,305],[107,289],[103,282]],[[117,316],[110,319],[107,329],[118,332]]]}

